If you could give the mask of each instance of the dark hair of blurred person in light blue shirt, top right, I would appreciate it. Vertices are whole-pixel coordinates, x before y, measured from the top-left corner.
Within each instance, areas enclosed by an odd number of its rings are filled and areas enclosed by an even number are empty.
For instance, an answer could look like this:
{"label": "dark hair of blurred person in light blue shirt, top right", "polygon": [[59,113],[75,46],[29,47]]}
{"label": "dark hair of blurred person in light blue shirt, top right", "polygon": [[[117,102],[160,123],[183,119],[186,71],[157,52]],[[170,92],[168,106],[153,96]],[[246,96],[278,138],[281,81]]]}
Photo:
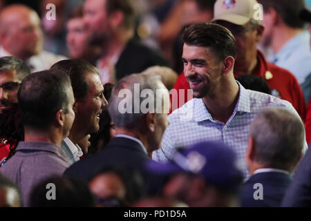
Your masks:
{"label": "dark hair of blurred person in light blue shirt, top right", "polygon": [[305,8],[304,0],[258,0],[258,3],[263,5],[265,12],[269,8],[274,8],[286,25],[292,28],[303,28],[304,21],[299,13]]}

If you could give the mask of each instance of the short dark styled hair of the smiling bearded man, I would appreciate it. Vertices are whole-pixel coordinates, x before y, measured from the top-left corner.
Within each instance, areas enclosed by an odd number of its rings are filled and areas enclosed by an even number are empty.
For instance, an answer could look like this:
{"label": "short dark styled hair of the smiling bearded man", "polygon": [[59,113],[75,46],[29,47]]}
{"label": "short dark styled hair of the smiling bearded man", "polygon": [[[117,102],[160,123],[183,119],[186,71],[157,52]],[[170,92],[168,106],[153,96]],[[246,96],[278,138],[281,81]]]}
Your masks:
{"label": "short dark styled hair of the smiling bearded man", "polygon": [[185,26],[182,39],[189,46],[211,48],[219,59],[236,57],[236,39],[227,28],[215,23],[192,23]]}

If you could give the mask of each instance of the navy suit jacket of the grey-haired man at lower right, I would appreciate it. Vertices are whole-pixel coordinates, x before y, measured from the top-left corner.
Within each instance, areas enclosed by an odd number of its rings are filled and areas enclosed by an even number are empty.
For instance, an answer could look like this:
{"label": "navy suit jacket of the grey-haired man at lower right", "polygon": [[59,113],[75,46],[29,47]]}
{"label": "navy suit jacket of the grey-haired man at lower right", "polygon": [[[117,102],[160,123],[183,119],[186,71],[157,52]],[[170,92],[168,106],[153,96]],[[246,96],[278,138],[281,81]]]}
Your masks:
{"label": "navy suit jacket of the grey-haired man at lower right", "polygon": [[[286,189],[291,182],[291,176],[279,172],[256,173],[249,177],[241,186],[241,206],[243,207],[275,207],[280,206]],[[263,200],[255,200],[254,184],[263,184]]]}

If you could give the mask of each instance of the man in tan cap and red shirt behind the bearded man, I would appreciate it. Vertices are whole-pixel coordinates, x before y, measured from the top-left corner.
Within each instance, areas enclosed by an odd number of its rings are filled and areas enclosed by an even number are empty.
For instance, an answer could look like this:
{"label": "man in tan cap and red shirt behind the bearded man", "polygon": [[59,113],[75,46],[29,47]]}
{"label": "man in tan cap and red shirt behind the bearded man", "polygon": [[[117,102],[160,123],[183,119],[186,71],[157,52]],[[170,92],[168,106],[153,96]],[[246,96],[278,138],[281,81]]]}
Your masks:
{"label": "man in tan cap and red shirt behind the bearded man", "polygon": [[[254,8],[256,3],[255,0],[218,0],[214,6],[213,22],[228,28],[236,38],[234,76],[256,75],[263,77],[269,84],[272,95],[290,102],[301,119],[304,120],[305,101],[296,77],[288,70],[267,62],[263,54],[257,50],[257,44],[263,35],[264,28],[261,21],[254,19],[255,11],[249,12],[249,8]],[[185,89],[185,102],[187,102],[189,85],[183,73],[178,77],[174,88],[178,90],[178,98],[180,92],[182,93],[179,89]],[[173,97],[173,99],[176,98]],[[179,102],[178,107],[182,105],[182,102]]]}

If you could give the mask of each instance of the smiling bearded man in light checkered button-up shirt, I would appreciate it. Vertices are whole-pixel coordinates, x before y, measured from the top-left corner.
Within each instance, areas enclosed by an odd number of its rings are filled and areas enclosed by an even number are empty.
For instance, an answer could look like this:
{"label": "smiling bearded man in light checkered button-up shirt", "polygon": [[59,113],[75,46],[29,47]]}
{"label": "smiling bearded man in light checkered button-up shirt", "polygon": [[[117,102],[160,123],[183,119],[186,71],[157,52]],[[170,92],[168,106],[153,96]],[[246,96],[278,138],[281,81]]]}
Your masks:
{"label": "smiling bearded man in light checkered button-up shirt", "polygon": [[224,142],[236,152],[247,177],[245,151],[249,124],[258,111],[276,106],[298,113],[289,102],[246,90],[234,79],[236,40],[227,28],[214,23],[194,23],[185,27],[182,38],[184,73],[194,99],[169,115],[162,148],[153,152],[153,160],[166,162],[176,148],[196,142]]}

